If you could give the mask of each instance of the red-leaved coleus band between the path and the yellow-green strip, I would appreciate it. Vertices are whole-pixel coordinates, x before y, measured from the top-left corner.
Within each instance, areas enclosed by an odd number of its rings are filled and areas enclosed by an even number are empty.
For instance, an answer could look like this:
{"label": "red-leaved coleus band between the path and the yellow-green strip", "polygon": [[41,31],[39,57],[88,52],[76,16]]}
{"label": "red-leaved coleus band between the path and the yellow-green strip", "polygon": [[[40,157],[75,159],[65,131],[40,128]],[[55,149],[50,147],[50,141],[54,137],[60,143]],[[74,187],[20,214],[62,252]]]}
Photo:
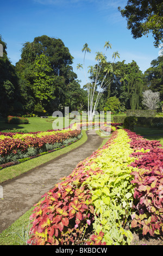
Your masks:
{"label": "red-leaved coleus band between the path and the yellow-green strip", "polygon": [[[100,170],[93,173],[99,173]],[[30,217],[34,219],[28,243],[32,245],[73,245],[81,242],[81,231],[93,221],[90,190],[82,187],[90,170],[83,172],[83,165],[72,175],[62,178],[45,199],[36,205]]]}

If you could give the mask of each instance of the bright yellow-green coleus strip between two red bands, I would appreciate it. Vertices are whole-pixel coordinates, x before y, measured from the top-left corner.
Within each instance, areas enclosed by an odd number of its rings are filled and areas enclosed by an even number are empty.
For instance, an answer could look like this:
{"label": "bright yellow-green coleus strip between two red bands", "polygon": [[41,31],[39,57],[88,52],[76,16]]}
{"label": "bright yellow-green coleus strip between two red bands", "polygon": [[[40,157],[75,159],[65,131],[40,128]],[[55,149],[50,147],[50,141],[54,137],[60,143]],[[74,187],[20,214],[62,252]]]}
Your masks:
{"label": "bright yellow-green coleus strip between two red bands", "polygon": [[124,229],[133,206],[134,186],[130,173],[136,169],[128,166],[135,160],[129,157],[133,153],[129,142],[127,132],[118,130],[114,141],[109,147],[106,143],[102,154],[90,166],[102,169],[103,174],[92,175],[84,182],[91,190],[95,206],[93,229],[98,234],[103,231],[106,245],[126,245],[133,239],[131,231]]}

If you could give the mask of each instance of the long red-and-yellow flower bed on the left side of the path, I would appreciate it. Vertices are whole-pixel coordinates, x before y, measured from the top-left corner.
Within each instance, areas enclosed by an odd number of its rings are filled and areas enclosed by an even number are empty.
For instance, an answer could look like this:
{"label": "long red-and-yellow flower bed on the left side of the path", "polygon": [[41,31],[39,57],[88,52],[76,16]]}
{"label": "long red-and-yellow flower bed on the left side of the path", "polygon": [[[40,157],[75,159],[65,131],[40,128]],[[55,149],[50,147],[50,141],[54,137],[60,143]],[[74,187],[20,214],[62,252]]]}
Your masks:
{"label": "long red-and-yellow flower bed on the left side of the path", "polygon": [[66,144],[77,141],[81,137],[81,131],[58,130],[35,133],[1,133],[0,135],[0,168],[5,168],[52,152]]}

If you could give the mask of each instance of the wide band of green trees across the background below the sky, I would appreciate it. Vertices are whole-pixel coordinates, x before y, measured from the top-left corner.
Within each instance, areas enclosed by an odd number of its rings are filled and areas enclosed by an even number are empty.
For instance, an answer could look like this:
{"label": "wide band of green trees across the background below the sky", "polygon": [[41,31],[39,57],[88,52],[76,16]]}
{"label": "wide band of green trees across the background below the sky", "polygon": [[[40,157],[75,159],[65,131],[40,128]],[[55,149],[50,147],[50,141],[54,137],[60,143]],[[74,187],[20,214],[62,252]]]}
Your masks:
{"label": "wide band of green trees across the background below the sky", "polygon": [[[52,115],[66,106],[70,111],[87,111],[86,85],[80,87],[72,69],[73,57],[61,39],[42,35],[33,42],[24,43],[21,59],[15,66],[7,56],[7,44],[2,36],[0,44],[3,45],[3,57],[0,58],[1,115]],[[100,58],[101,53],[98,54]],[[101,66],[93,106],[104,78],[104,84],[108,86],[103,88],[98,112],[111,109],[114,113],[121,113],[126,109],[143,108],[142,92],[147,89],[159,92],[162,100],[162,57],[153,60],[145,74],[134,60],[128,64],[124,62],[105,62]],[[92,78],[96,74],[91,70]]]}

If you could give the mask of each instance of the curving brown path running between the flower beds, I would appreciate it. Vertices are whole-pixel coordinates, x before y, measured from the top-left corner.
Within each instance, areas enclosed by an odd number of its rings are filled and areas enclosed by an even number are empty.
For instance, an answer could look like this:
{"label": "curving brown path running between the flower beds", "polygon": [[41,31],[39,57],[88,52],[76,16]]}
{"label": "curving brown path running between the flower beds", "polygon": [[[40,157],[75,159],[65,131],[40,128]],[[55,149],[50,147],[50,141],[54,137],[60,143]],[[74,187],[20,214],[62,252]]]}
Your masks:
{"label": "curving brown path running between the flower beds", "polygon": [[95,130],[86,133],[87,141],[79,148],[1,184],[4,199],[0,199],[0,233],[39,202],[60,178],[72,173],[80,161],[99,148],[103,138]]}

